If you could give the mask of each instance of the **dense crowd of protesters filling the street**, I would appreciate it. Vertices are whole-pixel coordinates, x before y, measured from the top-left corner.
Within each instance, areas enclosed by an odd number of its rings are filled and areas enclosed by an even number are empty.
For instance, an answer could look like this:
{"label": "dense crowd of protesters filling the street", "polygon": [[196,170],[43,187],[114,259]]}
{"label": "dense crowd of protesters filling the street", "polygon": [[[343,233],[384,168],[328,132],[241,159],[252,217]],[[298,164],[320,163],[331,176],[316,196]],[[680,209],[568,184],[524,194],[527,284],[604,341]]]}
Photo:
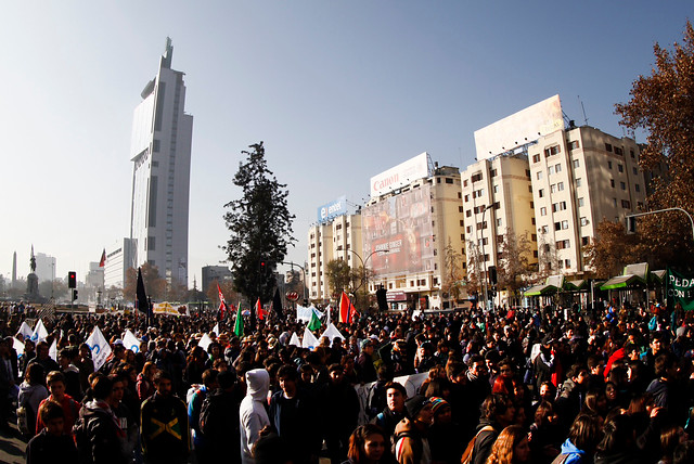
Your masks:
{"label": "dense crowd of protesters filling the street", "polygon": [[312,348],[272,313],[245,336],[216,313],[65,313],[15,352],[31,317],[0,311],[0,427],[29,464],[694,462],[694,318],[660,305],[361,314]]}

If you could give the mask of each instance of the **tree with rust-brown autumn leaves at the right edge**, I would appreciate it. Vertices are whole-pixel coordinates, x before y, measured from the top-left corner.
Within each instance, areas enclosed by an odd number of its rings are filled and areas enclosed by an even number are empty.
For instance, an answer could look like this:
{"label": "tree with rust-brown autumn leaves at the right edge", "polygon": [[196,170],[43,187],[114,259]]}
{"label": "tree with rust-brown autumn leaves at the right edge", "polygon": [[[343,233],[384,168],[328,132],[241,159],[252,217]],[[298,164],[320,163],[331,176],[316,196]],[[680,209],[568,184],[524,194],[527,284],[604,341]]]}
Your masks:
{"label": "tree with rust-brown autumn leaves at the right edge", "polygon": [[[640,166],[652,178],[645,211],[683,208],[694,214],[694,28],[686,22],[682,42],[669,51],[653,47],[655,64],[650,76],[639,76],[627,103],[616,105],[620,124],[646,132]],[[647,261],[692,269],[692,224],[681,211],[638,218],[635,236],[622,224],[603,221],[596,241],[587,248],[596,276],[607,278],[626,263]]]}

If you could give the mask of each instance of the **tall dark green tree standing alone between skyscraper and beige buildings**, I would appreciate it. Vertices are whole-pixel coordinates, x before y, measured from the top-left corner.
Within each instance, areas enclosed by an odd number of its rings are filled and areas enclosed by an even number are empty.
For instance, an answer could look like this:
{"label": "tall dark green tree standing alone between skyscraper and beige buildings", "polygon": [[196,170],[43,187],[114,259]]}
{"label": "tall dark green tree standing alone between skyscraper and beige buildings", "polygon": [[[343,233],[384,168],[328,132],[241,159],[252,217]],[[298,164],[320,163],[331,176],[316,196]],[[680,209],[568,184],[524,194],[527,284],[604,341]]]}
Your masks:
{"label": "tall dark green tree standing alone between skyscraper and beige buildings", "polygon": [[288,191],[268,169],[262,142],[243,151],[233,183],[243,195],[224,205],[231,233],[222,249],[231,263],[234,286],[248,301],[269,301],[274,287],[274,269],[284,260],[292,236],[294,215],[287,208]]}

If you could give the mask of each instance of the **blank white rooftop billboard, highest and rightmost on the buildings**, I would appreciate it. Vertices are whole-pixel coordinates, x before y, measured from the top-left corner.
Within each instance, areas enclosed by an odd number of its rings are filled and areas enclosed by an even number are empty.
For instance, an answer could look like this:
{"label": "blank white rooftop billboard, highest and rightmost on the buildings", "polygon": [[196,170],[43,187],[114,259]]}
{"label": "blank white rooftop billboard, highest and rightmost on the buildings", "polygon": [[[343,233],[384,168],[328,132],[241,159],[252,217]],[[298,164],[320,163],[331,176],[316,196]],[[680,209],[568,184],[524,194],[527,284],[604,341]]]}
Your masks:
{"label": "blank white rooftop billboard, highest and rightmost on the buildings", "polygon": [[564,128],[560,95],[475,131],[477,159],[488,159]]}

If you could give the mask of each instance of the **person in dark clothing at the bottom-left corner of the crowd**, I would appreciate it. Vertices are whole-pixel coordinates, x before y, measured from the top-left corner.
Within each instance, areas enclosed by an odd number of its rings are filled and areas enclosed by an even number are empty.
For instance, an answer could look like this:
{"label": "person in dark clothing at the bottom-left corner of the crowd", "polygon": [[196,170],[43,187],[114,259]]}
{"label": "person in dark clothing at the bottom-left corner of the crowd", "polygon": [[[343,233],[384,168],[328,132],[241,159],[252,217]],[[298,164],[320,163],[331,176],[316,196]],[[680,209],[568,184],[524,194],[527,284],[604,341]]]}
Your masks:
{"label": "person in dark clothing at the bottom-left corner of the crowd", "polygon": [[78,460],[73,437],[63,434],[65,413],[60,403],[46,401],[39,409],[46,427],[26,447],[27,464],[74,464]]}

